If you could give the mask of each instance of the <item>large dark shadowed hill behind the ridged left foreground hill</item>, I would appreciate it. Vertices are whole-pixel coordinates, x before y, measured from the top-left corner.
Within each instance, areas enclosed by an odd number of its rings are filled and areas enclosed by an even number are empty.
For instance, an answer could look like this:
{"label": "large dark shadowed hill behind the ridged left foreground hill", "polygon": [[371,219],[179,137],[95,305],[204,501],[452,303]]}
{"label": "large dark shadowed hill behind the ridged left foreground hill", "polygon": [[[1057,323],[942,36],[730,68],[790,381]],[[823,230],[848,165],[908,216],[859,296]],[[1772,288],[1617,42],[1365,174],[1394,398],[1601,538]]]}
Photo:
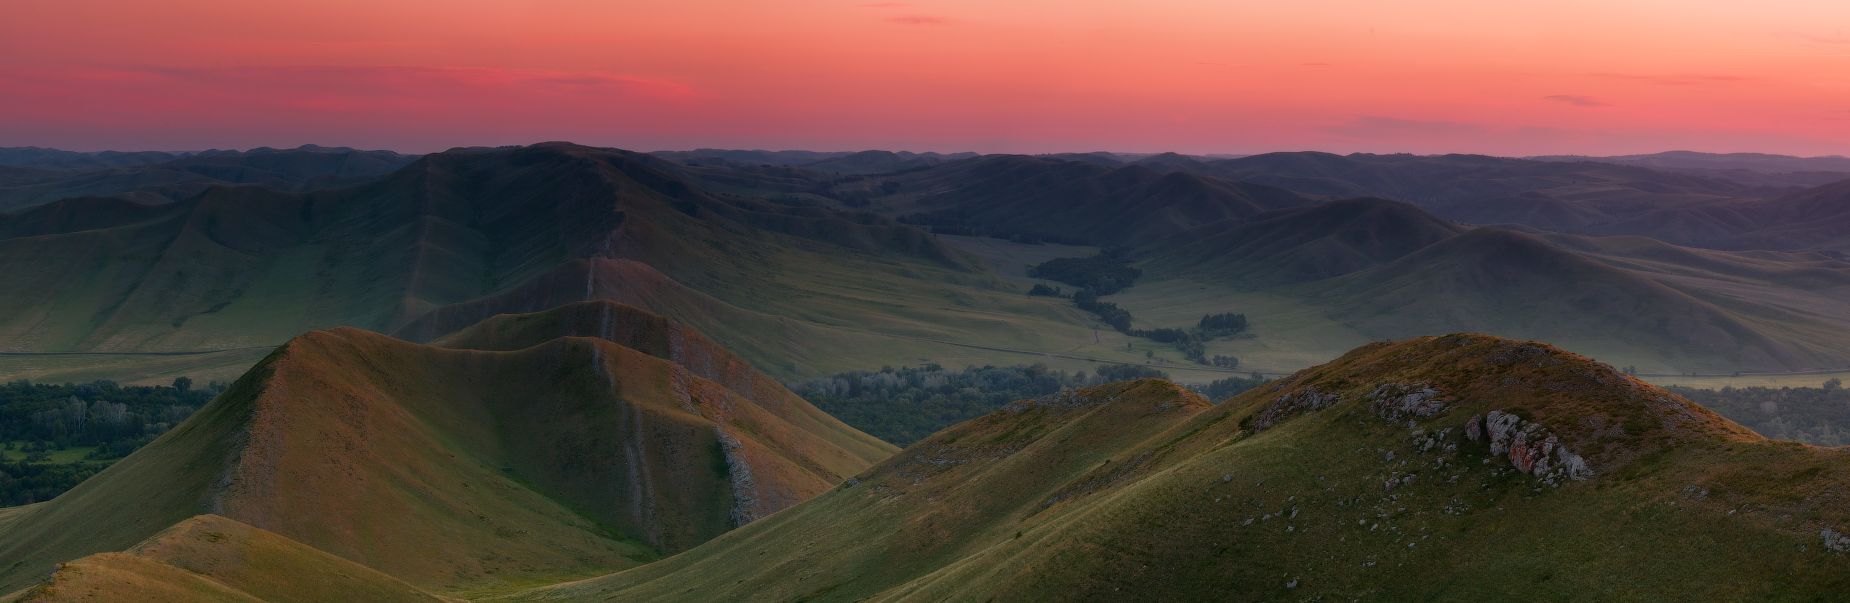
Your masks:
{"label": "large dark shadowed hill behind the ridged left foreground hill", "polygon": [[709,290],[779,290],[771,266],[803,250],[966,270],[912,228],[720,200],[664,161],[566,144],[431,155],[353,189],[215,187],[168,205],[78,198],[4,216],[0,235],[0,266],[18,285],[0,294],[0,333],[33,351],[398,329],[596,257]]}

